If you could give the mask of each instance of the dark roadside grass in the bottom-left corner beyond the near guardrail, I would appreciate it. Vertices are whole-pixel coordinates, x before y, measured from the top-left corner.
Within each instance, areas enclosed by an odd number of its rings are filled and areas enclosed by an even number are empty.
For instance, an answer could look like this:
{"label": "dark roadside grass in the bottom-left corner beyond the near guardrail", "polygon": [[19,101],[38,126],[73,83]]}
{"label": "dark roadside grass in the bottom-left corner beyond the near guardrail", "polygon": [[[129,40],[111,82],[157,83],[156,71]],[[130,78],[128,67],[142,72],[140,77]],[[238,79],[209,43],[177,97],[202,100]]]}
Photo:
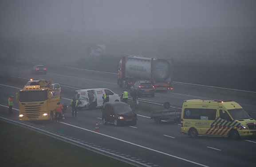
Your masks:
{"label": "dark roadside grass in the bottom-left corner beyond the near guardrail", "polygon": [[0,136],[2,167],[134,167],[4,121]]}

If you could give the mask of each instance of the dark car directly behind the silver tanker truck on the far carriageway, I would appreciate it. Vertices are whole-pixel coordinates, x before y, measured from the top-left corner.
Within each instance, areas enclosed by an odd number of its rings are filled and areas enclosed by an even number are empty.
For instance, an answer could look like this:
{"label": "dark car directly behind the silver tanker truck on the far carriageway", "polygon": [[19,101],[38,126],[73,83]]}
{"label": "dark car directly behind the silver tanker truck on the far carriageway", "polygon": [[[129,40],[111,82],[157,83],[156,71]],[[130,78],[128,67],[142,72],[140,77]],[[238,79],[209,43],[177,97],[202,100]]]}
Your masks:
{"label": "dark car directly behind the silver tanker truck on the far carriageway", "polygon": [[136,81],[133,86],[130,88],[130,94],[132,92],[137,93],[138,96],[150,95],[151,97],[155,96],[154,86],[150,81]]}

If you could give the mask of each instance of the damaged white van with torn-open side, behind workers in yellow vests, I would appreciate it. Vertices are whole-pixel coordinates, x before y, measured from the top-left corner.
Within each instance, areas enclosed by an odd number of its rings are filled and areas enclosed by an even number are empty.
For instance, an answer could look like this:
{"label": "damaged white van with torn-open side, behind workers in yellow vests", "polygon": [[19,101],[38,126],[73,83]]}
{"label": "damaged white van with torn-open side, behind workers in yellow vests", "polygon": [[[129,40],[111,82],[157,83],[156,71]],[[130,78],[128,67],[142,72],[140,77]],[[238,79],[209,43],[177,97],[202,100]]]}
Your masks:
{"label": "damaged white van with torn-open side, behind workers in yellow vests", "polygon": [[106,88],[97,88],[97,89],[81,89],[75,91],[75,99],[79,100],[79,109],[87,108],[92,103],[94,99],[93,94],[96,95],[95,107],[101,107],[103,105],[102,95],[106,93],[109,95],[109,101],[120,101],[118,94],[114,93],[110,89]]}

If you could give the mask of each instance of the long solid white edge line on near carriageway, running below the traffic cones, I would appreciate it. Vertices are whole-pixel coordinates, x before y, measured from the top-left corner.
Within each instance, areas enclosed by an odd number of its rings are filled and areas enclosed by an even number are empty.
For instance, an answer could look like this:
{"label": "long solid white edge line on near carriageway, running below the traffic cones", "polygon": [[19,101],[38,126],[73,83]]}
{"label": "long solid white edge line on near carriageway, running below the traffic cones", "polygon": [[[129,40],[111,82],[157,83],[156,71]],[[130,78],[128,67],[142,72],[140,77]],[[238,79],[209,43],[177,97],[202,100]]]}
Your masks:
{"label": "long solid white edge line on near carriageway, running below the traffic cones", "polygon": [[128,144],[131,144],[131,145],[134,145],[134,146],[137,146],[137,147],[140,147],[140,148],[144,148],[144,149],[147,149],[147,150],[150,150],[150,151],[155,151],[155,152],[158,152],[158,153],[160,153],[160,154],[167,155],[167,156],[170,156],[170,157],[173,157],[173,158],[176,158],[176,159],[181,159],[181,160],[186,161],[186,162],[189,162],[189,163],[194,163],[194,164],[197,164],[197,165],[202,166],[202,167],[209,167],[209,166],[204,165],[204,164],[201,164],[201,163],[197,163],[197,162],[194,162],[194,161],[191,161],[191,160],[188,160],[188,159],[184,159],[184,158],[181,158],[181,157],[178,157],[178,156],[175,156],[175,155],[171,155],[171,154],[162,152],[162,151],[154,150],[154,149],[152,149],[152,148],[147,148],[147,147],[142,146],[142,145],[139,145],[139,144],[131,143],[130,141],[118,139],[118,138],[116,138],[116,137],[108,136],[108,135],[105,135],[105,134],[102,134],[102,133],[99,133],[99,132],[95,132],[95,131],[92,131],[92,130],[89,130],[89,129],[86,129],[86,128],[81,128],[81,127],[79,127],[79,126],[75,126],[75,125],[72,125],[72,124],[67,124],[67,123],[65,123],[65,122],[59,122],[59,123],[61,123],[61,124],[66,124],[66,125],[68,125],[68,126],[72,126],[72,127],[75,127],[75,128],[79,128],[79,129],[82,129],[82,130],[85,130],[85,131],[88,131],[88,132],[96,133],[96,134],[98,134],[98,135],[106,136],[106,137],[109,137],[109,138],[112,138],[112,139],[115,139],[115,140],[119,140],[119,141],[122,141],[122,142],[125,142],[125,143],[128,143]]}

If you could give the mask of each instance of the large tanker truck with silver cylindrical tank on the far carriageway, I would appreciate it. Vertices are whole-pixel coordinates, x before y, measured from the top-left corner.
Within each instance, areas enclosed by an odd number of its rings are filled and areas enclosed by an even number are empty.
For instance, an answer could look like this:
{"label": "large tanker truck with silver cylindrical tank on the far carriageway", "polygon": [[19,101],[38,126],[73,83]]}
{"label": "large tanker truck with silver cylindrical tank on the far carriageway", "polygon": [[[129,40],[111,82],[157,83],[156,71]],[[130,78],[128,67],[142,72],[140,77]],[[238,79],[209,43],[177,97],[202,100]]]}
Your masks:
{"label": "large tanker truck with silver cylindrical tank on the far carriageway", "polygon": [[172,59],[123,56],[118,67],[119,87],[129,89],[138,80],[150,81],[155,90],[172,90]]}

